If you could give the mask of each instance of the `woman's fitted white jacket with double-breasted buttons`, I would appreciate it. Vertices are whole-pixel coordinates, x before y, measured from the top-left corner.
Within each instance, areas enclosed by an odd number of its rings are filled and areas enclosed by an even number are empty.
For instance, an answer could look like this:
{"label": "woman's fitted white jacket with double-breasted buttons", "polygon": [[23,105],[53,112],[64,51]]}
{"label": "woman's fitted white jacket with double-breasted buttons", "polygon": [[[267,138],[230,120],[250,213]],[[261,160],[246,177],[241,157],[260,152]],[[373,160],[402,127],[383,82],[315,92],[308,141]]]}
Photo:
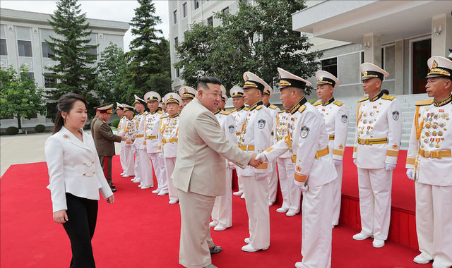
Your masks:
{"label": "woman's fitted white jacket with double-breasted buttons", "polygon": [[53,212],[67,209],[66,193],[90,200],[99,200],[99,190],[105,198],[113,195],[93,137],[81,131],[83,142],[64,127],[45,141]]}

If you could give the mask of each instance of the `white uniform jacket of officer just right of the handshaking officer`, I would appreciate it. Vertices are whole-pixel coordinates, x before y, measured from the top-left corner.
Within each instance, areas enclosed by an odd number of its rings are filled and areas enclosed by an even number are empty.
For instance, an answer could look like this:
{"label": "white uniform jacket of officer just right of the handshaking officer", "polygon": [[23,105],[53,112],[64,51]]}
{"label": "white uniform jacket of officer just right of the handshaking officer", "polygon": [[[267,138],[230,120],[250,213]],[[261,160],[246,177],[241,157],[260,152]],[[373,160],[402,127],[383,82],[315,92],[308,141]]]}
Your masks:
{"label": "white uniform jacket of officer just right of the handshaking officer", "polygon": [[348,108],[342,102],[334,100],[314,103],[317,111],[323,116],[328,133],[330,154],[333,159],[342,161],[347,144]]}

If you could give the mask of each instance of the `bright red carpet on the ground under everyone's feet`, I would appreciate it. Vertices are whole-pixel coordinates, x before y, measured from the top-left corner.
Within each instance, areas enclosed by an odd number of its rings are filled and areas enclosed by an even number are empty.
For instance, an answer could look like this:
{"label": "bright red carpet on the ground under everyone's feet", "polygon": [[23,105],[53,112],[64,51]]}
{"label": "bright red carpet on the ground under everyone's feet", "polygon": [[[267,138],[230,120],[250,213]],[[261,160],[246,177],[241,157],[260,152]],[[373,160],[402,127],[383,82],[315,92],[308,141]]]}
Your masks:
{"label": "bright red carpet on the ground under everyone's feet", "polygon": [[[129,178],[119,177],[114,157],[113,205],[100,201],[93,247],[97,267],[182,267],[178,264],[179,205],[168,197],[140,190]],[[349,165],[350,166],[350,165]],[[69,267],[71,248],[62,226],[52,221],[45,163],[13,165],[0,180],[0,267]],[[301,260],[301,217],[286,217],[270,207],[271,242],[264,252],[242,252],[247,217],[244,200],[234,196],[234,226],[212,231],[223,247],[213,255],[220,268],[294,267]],[[70,219],[69,219],[70,220]],[[415,248],[389,241],[375,249],[371,240],[355,241],[357,229],[340,225],[333,230],[333,268],[429,267],[412,262]],[[430,264],[431,265],[431,264]]]}

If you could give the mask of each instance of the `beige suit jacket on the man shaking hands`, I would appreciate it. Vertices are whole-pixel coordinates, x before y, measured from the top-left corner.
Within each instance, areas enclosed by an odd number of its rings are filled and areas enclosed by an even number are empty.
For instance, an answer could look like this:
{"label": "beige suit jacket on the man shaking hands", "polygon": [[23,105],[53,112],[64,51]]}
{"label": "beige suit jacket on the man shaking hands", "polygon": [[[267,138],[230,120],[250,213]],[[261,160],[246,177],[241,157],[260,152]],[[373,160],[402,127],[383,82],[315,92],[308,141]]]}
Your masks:
{"label": "beige suit jacket on the man shaking hands", "polygon": [[224,195],[225,158],[244,169],[251,154],[227,140],[215,115],[195,98],[179,118],[174,186],[186,193]]}

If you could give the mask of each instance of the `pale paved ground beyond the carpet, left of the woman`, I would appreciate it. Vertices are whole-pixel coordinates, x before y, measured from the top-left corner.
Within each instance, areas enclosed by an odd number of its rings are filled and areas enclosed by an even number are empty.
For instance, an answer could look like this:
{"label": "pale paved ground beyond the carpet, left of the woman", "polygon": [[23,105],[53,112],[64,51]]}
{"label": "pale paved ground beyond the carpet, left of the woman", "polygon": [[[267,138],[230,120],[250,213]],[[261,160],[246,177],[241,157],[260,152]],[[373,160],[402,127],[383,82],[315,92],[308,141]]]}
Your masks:
{"label": "pale paved ground beyond the carpet, left of the woman", "polygon": [[[90,133],[88,130],[87,133]],[[51,133],[0,136],[1,176],[12,164],[45,162],[44,142]],[[119,154],[119,143],[115,142]]]}

